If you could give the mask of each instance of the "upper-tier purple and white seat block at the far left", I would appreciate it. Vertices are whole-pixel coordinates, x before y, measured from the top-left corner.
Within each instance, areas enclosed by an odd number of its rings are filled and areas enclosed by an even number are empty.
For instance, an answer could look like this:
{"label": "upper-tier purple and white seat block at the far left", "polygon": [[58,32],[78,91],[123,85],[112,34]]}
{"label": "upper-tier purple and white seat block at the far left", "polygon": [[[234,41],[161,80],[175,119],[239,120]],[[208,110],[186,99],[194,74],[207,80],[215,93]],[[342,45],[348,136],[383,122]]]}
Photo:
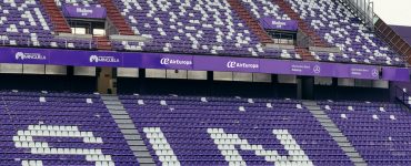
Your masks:
{"label": "upper-tier purple and white seat block at the far left", "polygon": [[38,0],[0,3],[0,44],[17,46],[93,49],[89,40],[54,39],[53,25]]}

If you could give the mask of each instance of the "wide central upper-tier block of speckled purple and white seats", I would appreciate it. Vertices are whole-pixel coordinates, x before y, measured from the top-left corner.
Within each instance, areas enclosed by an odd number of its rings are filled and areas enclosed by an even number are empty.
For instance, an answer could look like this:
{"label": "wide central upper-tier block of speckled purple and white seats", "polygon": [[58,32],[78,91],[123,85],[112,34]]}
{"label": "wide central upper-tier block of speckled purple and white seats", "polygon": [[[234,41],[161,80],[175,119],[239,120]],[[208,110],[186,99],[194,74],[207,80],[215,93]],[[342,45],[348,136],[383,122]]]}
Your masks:
{"label": "wide central upper-tier block of speckled purple and white seats", "polygon": [[113,41],[117,50],[301,59],[293,50],[264,50],[227,0],[114,3],[136,34],[152,40]]}

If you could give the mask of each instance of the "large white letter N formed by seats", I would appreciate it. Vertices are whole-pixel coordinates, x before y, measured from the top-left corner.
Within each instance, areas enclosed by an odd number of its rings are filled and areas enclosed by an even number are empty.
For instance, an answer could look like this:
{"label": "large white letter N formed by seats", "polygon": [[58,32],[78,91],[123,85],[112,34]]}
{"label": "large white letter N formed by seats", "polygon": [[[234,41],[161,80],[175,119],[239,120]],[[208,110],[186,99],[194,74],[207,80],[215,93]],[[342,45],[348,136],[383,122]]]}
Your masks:
{"label": "large white letter N formed by seats", "polygon": [[264,157],[267,162],[272,162],[275,166],[313,165],[287,129],[273,129],[272,133],[284,146],[289,156],[281,156],[278,151],[265,151],[262,145],[250,145],[247,139],[241,139],[238,134],[227,134],[222,128],[209,128],[207,132],[214,139],[214,144],[230,166],[247,165],[235,145],[240,146],[242,151],[253,151],[257,156]]}

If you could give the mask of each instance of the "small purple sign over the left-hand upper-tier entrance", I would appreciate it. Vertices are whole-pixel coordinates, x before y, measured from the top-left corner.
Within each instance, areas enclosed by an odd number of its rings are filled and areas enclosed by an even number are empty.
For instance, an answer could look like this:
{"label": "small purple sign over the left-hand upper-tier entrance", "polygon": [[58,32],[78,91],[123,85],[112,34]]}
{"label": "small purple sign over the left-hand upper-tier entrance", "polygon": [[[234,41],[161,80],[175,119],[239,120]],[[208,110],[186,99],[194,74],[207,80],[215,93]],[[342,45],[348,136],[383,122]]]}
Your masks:
{"label": "small purple sign over the left-hand upper-tier entrance", "polygon": [[106,8],[102,7],[79,7],[63,6],[62,11],[67,18],[88,18],[88,19],[104,19],[107,15]]}

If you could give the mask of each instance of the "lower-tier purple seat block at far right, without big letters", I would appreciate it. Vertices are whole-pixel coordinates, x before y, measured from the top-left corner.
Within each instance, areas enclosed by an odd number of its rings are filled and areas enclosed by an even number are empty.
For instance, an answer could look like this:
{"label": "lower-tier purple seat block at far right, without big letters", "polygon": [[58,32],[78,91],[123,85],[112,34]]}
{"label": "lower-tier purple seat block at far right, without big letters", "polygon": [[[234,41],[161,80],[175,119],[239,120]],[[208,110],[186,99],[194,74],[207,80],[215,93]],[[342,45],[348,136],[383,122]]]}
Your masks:
{"label": "lower-tier purple seat block at far right, without big letters", "polygon": [[411,116],[399,104],[320,102],[369,165],[411,163]]}

